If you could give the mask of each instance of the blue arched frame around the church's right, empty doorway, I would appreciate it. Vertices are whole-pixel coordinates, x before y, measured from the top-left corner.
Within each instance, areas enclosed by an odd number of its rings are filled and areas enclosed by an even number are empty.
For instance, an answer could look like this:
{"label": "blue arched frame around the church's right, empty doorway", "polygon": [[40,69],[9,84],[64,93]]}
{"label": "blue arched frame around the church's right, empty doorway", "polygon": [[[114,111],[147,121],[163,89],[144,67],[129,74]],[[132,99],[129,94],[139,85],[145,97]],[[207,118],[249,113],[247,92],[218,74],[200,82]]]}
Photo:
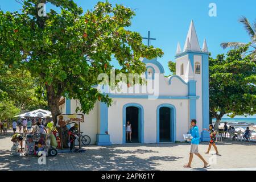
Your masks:
{"label": "blue arched frame around the church's right, empty doorway", "polygon": [[171,104],[161,104],[157,107],[156,110],[156,143],[160,143],[160,108],[161,107],[168,107],[171,109],[171,136],[170,142],[176,141],[176,108],[174,105]]}

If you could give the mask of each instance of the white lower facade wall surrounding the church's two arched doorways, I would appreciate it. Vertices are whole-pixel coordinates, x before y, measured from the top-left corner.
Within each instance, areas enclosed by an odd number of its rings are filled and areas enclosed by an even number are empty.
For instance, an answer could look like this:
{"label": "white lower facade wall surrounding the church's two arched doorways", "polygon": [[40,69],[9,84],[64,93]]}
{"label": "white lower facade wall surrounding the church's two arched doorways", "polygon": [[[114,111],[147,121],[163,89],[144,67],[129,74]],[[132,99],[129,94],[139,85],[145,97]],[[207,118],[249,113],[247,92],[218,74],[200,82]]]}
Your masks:
{"label": "white lower facade wall surrounding the church's two arched doorways", "polygon": [[109,107],[110,142],[122,144],[123,106],[129,103],[141,104],[144,108],[144,143],[156,143],[156,109],[161,104],[176,107],[176,140],[183,141],[183,134],[188,132],[188,100],[146,100],[114,98]]}

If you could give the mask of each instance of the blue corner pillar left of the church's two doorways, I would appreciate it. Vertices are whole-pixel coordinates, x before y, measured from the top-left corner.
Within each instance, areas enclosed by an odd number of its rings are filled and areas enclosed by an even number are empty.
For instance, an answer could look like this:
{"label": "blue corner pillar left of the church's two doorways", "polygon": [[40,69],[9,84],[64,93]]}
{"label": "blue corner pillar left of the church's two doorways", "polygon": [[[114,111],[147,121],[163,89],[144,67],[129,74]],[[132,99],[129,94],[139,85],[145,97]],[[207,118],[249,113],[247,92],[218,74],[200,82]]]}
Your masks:
{"label": "blue corner pillar left of the church's two doorways", "polygon": [[96,135],[96,144],[98,146],[110,146],[110,135],[108,133],[109,125],[109,107],[104,102],[100,102],[100,131]]}

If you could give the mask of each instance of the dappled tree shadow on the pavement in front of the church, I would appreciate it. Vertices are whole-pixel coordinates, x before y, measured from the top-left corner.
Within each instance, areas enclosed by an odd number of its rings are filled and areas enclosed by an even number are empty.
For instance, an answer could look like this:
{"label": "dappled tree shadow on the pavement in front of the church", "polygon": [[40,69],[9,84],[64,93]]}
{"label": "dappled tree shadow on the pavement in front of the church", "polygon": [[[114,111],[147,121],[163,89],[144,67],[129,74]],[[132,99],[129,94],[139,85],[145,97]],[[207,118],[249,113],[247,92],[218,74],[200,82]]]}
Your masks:
{"label": "dappled tree shadow on the pavement in front of the church", "polygon": [[[47,158],[46,165],[39,165],[35,156],[10,156],[10,151],[0,152],[1,170],[155,170],[159,161],[175,161],[181,159],[176,156],[150,156],[144,154],[155,153],[152,150],[124,151],[116,147],[90,148],[84,154],[58,154],[54,158]],[[136,156],[135,154],[141,154]]]}

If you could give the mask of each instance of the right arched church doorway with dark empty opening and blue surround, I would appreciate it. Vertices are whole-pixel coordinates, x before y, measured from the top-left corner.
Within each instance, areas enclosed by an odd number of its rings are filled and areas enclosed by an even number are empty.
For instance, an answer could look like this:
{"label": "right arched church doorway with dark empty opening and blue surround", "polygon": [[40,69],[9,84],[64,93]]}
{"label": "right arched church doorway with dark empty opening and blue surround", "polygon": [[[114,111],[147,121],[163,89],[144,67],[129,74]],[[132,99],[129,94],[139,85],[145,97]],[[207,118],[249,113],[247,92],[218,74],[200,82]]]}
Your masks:
{"label": "right arched church doorway with dark empty opening and blue surround", "polygon": [[171,104],[162,104],[157,108],[156,142],[175,142],[176,109]]}

